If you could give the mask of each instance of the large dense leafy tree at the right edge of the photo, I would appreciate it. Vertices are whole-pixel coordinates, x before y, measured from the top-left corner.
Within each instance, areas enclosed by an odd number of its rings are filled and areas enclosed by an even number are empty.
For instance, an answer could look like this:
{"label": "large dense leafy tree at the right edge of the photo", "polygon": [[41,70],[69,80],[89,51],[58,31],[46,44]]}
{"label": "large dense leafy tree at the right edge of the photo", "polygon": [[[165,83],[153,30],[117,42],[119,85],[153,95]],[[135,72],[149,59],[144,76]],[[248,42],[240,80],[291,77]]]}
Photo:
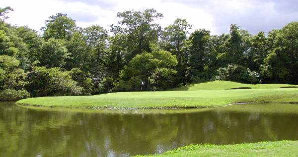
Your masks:
{"label": "large dense leafy tree at the right edge of the photo", "polygon": [[298,84],[298,22],[291,22],[268,35],[270,53],[264,59],[265,82]]}

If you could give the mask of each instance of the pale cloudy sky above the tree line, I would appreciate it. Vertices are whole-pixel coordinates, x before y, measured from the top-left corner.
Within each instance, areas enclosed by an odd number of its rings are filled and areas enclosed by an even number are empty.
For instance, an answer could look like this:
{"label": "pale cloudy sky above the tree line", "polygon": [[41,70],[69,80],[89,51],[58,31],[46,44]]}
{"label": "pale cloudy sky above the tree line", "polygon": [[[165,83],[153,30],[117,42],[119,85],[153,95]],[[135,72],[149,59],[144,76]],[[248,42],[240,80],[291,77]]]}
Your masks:
{"label": "pale cloudy sky above the tree line", "polygon": [[195,29],[211,34],[228,33],[230,24],[251,34],[268,33],[292,21],[298,21],[298,0],[1,0],[0,7],[10,6],[5,22],[27,25],[37,31],[45,20],[58,12],[66,13],[80,27],[117,24],[117,12],[144,11],[154,8],[163,17],[154,22],[168,26],[176,18],[186,19]]}

